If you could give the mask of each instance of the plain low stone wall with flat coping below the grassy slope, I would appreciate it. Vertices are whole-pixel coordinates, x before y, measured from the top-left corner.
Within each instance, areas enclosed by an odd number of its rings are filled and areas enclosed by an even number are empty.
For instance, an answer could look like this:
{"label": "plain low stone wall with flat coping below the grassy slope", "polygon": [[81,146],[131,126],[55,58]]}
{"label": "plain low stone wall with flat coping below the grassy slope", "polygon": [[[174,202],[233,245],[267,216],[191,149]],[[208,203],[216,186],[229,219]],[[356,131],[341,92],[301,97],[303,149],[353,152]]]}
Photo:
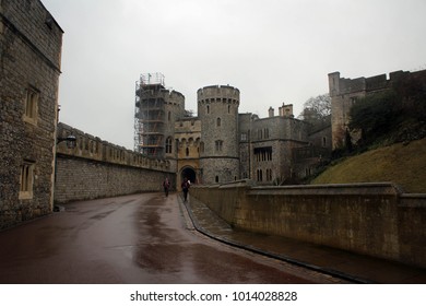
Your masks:
{"label": "plain low stone wall with flat coping below the grassy slope", "polygon": [[426,195],[390,183],[193,186],[192,197],[235,227],[426,267]]}

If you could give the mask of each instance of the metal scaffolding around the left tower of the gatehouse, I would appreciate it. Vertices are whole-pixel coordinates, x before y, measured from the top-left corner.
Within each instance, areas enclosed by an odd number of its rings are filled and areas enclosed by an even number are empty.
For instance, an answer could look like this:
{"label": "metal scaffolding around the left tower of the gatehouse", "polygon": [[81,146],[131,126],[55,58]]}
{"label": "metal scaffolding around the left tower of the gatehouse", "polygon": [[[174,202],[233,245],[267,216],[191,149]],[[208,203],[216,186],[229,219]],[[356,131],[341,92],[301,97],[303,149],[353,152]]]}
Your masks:
{"label": "metal scaffolding around the left tower of the gatehouse", "polygon": [[162,73],[141,74],[135,83],[134,151],[164,157],[165,84]]}

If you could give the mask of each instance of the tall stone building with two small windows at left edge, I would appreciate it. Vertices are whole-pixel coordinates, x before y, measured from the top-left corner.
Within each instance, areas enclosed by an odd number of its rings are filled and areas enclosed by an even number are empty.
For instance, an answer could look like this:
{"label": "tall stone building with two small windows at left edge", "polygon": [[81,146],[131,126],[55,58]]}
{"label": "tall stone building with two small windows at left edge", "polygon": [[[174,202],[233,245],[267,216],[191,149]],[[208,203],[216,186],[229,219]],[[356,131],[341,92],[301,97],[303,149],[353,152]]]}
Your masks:
{"label": "tall stone building with two small windows at left edge", "polygon": [[0,1],[0,229],[52,210],[62,34],[39,0]]}

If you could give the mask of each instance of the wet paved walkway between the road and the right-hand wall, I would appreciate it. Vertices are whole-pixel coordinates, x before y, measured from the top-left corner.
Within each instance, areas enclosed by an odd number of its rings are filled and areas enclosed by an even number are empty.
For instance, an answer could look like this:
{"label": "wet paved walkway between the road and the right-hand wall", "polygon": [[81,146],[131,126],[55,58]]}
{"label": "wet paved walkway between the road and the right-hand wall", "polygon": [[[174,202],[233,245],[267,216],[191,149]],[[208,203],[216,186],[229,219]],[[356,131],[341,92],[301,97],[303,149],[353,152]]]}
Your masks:
{"label": "wet paved walkway between the road and the right-hand wall", "polygon": [[[178,199],[182,201],[181,197]],[[194,198],[186,202],[185,207],[198,231],[229,245],[342,276],[355,283],[426,284],[426,269],[285,237],[236,231]]]}

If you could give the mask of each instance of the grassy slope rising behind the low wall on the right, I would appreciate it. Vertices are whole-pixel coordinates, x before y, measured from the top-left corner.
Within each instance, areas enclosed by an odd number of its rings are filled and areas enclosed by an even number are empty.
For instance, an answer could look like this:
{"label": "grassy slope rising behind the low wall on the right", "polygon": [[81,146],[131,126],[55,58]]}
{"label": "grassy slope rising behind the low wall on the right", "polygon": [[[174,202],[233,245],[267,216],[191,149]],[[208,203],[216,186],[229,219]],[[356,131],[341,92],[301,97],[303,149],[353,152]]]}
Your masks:
{"label": "grassy slope rising behind the low wall on the right", "polygon": [[405,192],[426,193],[426,138],[344,160],[311,184],[393,181]]}

